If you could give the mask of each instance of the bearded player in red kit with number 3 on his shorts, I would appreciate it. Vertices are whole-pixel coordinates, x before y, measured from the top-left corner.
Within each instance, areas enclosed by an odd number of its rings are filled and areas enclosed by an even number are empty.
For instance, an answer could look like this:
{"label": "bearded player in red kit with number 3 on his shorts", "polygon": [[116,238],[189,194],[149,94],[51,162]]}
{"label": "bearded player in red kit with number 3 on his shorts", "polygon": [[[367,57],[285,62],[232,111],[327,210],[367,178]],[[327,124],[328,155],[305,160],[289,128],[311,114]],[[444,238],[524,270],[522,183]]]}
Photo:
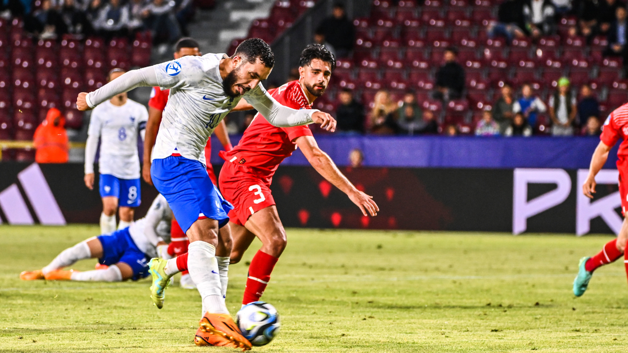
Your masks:
{"label": "bearded player in red kit with number 3 on his shorts", "polygon": [[[295,109],[310,109],[317,97],[325,93],[335,68],[335,59],[325,46],[308,45],[301,53],[300,79],[269,90],[281,104]],[[240,101],[234,110],[252,107]],[[270,280],[271,272],[286,247],[286,231],[275,207],[270,185],[274,172],[284,158],[300,148],[311,165],[325,179],[349,196],[362,214],[376,215],[379,207],[369,195],[357,190],[342,175],[318,144],[307,126],[277,128],[259,114],[244,131],[240,143],[229,152],[220,153],[226,161],[220,170],[220,190],[234,205],[229,225],[234,239],[231,263],[238,263],[255,237],[262,247],[251,261],[242,305],[259,300]],[[181,256],[185,258],[185,254]],[[185,259],[173,259],[184,270]],[[163,261],[163,260],[161,260]]]}

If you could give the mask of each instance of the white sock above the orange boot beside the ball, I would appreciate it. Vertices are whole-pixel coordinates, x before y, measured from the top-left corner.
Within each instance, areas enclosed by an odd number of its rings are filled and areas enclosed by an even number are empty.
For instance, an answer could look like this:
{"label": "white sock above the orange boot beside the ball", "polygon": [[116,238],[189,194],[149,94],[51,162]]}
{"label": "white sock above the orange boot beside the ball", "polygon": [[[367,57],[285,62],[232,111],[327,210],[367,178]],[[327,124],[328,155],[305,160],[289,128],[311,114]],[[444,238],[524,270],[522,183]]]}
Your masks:
{"label": "white sock above the orange boot beside the ball", "polygon": [[222,298],[216,248],[204,241],[193,241],[188,246],[188,271],[203,299],[203,310],[210,313],[229,313]]}

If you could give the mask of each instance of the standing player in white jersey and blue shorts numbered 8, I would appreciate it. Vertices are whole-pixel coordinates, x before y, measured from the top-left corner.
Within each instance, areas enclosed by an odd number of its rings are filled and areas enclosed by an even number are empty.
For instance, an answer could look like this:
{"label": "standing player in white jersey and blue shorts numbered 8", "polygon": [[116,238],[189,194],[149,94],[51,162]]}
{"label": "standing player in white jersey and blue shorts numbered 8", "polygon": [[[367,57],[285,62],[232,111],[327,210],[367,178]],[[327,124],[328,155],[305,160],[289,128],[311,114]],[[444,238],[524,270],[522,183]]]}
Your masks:
{"label": "standing player in white jersey and blue shorts numbered 8", "polygon": [[[121,68],[109,72],[109,81],[124,73]],[[139,186],[138,133],[144,139],[148,120],[146,107],[117,94],[92,111],[85,145],[85,185],[94,188],[94,159],[100,138],[99,189],[102,197],[100,233],[116,230],[116,209],[124,229],[133,222],[134,209],[141,202]]]}

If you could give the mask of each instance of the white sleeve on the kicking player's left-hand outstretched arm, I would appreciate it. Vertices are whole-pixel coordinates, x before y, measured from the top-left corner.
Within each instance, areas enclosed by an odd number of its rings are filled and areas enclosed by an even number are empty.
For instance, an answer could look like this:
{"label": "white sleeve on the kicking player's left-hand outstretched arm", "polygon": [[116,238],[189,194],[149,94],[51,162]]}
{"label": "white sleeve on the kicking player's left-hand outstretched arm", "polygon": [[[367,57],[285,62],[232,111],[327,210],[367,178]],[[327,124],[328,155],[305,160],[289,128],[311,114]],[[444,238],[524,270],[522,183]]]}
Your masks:
{"label": "white sleeve on the kicking player's left-hand outstretched arm", "polygon": [[156,85],[158,85],[158,81],[154,68],[152,66],[139,68],[138,70],[126,72],[94,92],[90,92],[85,97],[85,100],[90,108],[94,108],[100,103],[111,99],[116,94],[128,92],[136,87]]}

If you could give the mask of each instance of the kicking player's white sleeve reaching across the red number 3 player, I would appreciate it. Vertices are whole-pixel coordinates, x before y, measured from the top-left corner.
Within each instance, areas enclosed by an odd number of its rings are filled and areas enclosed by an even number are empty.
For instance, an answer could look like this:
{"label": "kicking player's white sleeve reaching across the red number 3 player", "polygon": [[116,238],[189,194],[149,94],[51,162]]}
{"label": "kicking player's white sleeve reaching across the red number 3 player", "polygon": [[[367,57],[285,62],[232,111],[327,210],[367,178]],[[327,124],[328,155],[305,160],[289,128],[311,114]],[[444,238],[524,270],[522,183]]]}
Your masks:
{"label": "kicking player's white sleeve reaching across the red number 3 player", "polygon": [[266,92],[261,84],[244,95],[244,99],[262,114],[268,122],[279,128],[311,124],[312,113],[318,112],[317,109],[297,110],[282,106]]}

